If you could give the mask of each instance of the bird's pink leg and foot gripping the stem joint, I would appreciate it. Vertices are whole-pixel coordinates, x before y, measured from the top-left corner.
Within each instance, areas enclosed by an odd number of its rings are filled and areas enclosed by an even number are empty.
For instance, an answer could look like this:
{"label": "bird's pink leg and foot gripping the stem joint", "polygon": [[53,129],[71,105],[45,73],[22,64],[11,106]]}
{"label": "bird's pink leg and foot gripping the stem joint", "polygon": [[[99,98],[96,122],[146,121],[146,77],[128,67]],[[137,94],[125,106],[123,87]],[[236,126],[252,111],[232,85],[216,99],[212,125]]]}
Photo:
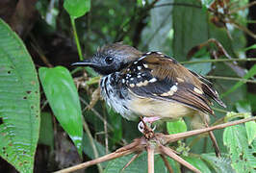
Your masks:
{"label": "bird's pink leg and foot gripping the stem joint", "polygon": [[138,124],[138,129],[139,131],[146,137],[146,138],[151,138],[154,136],[154,130],[155,127],[151,128],[151,124],[154,121],[157,121],[161,119],[158,116],[154,117],[142,117],[141,116],[141,122]]}

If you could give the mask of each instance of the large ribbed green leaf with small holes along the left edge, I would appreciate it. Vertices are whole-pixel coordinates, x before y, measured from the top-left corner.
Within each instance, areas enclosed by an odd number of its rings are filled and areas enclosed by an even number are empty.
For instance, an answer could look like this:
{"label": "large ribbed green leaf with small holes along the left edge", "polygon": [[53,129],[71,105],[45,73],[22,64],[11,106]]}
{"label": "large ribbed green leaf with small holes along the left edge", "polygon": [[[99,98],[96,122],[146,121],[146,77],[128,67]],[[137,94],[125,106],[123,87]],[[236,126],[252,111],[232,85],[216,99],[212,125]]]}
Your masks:
{"label": "large ribbed green leaf with small holes along the left edge", "polygon": [[22,40],[0,19],[0,156],[33,172],[39,133],[39,85]]}

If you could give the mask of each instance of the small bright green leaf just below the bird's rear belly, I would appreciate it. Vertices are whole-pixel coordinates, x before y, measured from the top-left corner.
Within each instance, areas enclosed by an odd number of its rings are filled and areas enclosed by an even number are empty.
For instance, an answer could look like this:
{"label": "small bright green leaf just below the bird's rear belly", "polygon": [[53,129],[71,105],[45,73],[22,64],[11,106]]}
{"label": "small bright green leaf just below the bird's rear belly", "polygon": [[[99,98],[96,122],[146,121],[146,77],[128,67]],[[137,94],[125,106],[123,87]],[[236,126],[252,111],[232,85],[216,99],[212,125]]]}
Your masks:
{"label": "small bright green leaf just below the bird's rear belly", "polygon": [[182,118],[176,121],[166,122],[166,128],[169,135],[187,132],[187,125]]}

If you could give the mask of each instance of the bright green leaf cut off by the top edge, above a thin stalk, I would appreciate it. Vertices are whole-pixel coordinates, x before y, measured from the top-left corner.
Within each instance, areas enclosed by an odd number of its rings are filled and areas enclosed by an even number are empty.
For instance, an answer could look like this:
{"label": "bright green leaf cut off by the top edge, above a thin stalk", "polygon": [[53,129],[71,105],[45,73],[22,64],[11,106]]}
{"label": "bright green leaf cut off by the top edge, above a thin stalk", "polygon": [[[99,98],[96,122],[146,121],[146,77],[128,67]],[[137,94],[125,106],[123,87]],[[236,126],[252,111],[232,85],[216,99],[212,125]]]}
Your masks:
{"label": "bright green leaf cut off by the top edge, above a thin stalk", "polygon": [[72,18],[78,18],[90,11],[90,0],[64,0],[64,9]]}

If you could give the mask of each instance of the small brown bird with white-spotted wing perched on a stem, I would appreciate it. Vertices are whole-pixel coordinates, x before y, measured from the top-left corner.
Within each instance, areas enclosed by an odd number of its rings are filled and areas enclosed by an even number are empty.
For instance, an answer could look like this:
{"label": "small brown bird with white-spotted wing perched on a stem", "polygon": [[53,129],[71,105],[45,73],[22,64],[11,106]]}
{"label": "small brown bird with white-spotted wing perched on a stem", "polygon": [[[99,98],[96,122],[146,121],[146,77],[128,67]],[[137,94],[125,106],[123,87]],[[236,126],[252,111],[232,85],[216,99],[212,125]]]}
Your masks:
{"label": "small brown bird with white-spotted wing perched on a stem", "polygon": [[[209,115],[215,114],[212,100],[226,107],[210,81],[159,51],[142,53],[115,42],[72,65],[90,66],[102,75],[103,99],[128,120],[142,116],[143,121],[152,123],[189,116],[192,129],[200,129],[208,126]],[[210,136],[220,156],[216,138],[212,132]]]}

